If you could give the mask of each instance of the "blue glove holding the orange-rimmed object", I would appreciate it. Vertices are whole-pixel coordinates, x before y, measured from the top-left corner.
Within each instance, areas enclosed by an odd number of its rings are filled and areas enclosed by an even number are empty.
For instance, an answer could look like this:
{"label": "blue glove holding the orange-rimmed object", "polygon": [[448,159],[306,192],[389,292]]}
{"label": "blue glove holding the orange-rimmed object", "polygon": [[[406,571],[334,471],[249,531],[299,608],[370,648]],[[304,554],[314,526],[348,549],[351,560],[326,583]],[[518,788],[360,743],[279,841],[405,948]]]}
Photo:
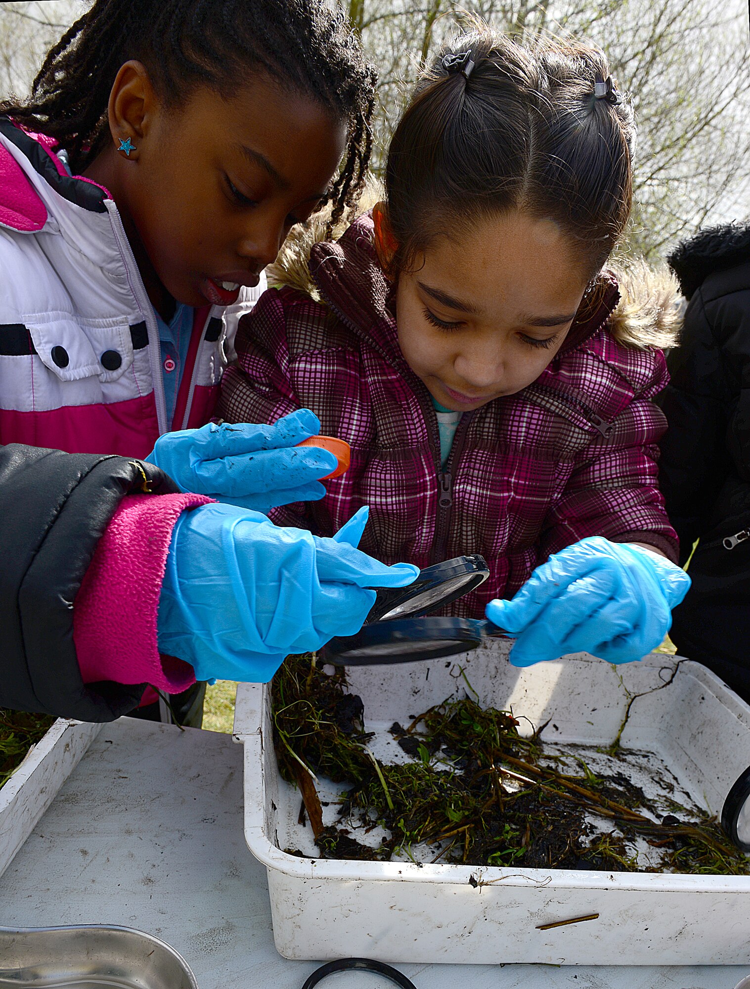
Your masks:
{"label": "blue glove holding the orange-rimmed object", "polygon": [[338,461],[320,447],[297,448],[320,431],[321,421],[309,408],[298,408],[270,426],[209,422],[200,429],[164,433],[145,459],[184,492],[267,512],[326,494],[318,478],[334,471]]}

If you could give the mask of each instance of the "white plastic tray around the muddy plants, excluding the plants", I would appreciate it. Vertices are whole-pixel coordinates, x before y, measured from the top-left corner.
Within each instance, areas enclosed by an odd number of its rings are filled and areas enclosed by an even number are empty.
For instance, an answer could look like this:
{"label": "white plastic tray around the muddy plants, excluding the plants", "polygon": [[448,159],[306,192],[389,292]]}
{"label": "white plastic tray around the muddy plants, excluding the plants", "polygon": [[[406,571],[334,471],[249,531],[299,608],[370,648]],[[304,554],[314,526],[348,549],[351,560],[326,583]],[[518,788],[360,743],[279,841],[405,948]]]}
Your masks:
{"label": "white plastic tray around the muddy plants, excluding the plants", "polygon": [[[508,644],[452,662],[349,671],[370,730],[463,696],[512,707],[545,741],[608,745],[633,694],[621,744],[655,753],[698,803],[720,813],[750,764],[750,708],[698,664],[664,655],[612,667],[586,654],[516,670]],[[674,667],[679,669],[664,686]],[[661,687],[661,689],[654,689]],[[652,691],[652,692],[649,692]],[[732,964],[750,957],[750,876],[673,875],[341,861],[285,854],[300,795],[279,778],[270,690],[240,684],[244,832],[268,874],[277,949],[287,958],[365,955],[393,962]],[[308,829],[309,831],[309,829]],[[308,839],[309,841],[309,839]],[[587,923],[538,925],[598,913]]]}

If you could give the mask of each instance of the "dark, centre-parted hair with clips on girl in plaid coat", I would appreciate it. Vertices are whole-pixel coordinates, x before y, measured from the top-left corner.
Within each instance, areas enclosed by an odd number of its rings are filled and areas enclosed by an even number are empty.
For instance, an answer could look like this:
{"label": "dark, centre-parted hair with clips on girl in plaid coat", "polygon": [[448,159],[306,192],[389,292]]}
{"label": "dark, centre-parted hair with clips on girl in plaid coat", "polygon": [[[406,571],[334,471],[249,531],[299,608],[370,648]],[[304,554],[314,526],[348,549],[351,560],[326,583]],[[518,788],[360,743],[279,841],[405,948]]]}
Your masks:
{"label": "dark, centre-parted hair with clips on girl in plaid coat", "polygon": [[482,24],[445,45],[388,154],[395,271],[446,225],[514,209],[560,225],[599,270],[630,214],[635,140],[608,80],[603,52],[578,42],[518,45]]}

